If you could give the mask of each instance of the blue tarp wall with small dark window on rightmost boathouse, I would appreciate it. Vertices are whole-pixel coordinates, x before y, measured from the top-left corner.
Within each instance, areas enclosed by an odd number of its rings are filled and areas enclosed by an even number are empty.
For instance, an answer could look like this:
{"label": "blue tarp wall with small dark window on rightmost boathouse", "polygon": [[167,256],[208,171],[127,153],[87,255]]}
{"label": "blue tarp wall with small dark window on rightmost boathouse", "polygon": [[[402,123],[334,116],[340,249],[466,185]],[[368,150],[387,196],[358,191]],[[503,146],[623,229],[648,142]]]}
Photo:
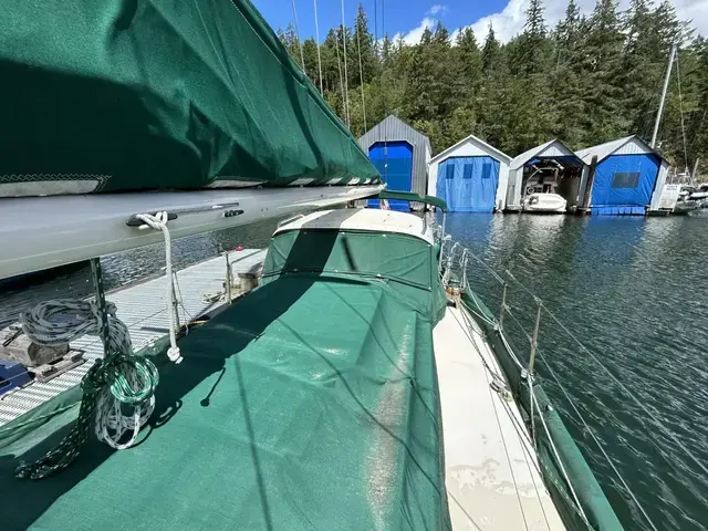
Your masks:
{"label": "blue tarp wall with small dark window on rightmost boathouse", "polygon": [[660,159],[653,154],[611,155],[595,168],[594,216],[644,215],[652,200]]}

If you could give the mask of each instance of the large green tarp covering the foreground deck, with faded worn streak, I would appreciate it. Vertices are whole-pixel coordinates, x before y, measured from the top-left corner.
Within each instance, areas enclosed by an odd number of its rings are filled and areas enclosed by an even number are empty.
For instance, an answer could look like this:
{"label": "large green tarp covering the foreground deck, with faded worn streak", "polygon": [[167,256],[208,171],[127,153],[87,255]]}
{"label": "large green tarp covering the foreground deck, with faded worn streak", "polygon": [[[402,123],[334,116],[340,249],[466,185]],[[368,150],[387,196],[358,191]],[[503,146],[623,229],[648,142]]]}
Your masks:
{"label": "large green tarp covering the foreground deck, with faded worn streak", "polygon": [[0,450],[3,529],[449,529],[431,321],[388,285],[287,274],[180,348],[137,447]]}

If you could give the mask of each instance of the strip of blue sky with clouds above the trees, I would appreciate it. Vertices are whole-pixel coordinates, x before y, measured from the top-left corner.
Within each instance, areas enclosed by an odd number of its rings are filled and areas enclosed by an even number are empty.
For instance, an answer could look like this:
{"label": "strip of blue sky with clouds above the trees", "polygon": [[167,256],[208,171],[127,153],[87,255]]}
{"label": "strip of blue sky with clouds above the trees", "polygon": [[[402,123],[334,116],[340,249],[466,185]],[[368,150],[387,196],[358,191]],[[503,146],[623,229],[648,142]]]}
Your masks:
{"label": "strip of blue sky with clouds above the trees", "polygon": [[[481,41],[492,23],[497,35],[508,41],[518,34],[524,22],[524,12],[529,0],[383,0],[385,4],[385,30],[393,35],[402,35],[408,43],[420,39],[426,27],[434,28],[440,20],[450,32],[471,27]],[[655,0],[658,3],[659,0]],[[291,0],[253,0],[256,7],[266,17],[273,29],[285,28],[293,21]],[[438,3],[439,2],[439,3]],[[592,12],[595,0],[575,0],[584,13]],[[314,37],[314,0],[295,0],[298,22],[302,37]],[[344,13],[347,25],[353,25],[357,1],[345,0]],[[374,32],[374,0],[361,2]],[[545,20],[551,27],[563,17],[568,0],[544,0]],[[629,0],[620,0],[620,9],[626,9]],[[673,0],[678,15],[693,20],[699,33],[708,35],[708,0]],[[378,33],[382,33],[382,0],[377,0]],[[326,31],[342,21],[341,0],[317,0],[320,40]]]}

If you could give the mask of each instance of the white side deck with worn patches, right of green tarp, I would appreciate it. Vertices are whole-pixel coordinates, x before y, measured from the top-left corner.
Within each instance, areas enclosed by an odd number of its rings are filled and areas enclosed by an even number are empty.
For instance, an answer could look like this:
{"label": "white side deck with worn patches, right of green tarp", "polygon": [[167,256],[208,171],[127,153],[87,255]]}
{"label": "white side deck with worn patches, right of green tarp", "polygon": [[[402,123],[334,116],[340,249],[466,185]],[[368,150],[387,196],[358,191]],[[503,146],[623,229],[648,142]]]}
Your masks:
{"label": "white side deck with worn patches, right of green tarp", "polygon": [[506,378],[481,330],[448,308],[433,337],[452,529],[564,529],[517,405],[491,387]]}

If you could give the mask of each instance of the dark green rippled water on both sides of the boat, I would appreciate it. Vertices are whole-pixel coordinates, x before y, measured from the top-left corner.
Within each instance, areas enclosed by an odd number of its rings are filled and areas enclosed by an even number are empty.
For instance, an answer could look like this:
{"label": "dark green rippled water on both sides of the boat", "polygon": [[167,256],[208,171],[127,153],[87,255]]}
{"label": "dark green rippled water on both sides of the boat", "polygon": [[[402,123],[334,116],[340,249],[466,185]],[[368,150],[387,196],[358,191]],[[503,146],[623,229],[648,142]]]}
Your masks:
{"label": "dark green rippled water on both sides of the boat", "polygon": [[[274,227],[271,221],[178,240],[174,261],[181,268],[239,244],[263,247]],[[447,228],[498,272],[510,270],[539,294],[665,429],[708,464],[708,216],[456,214]],[[163,252],[153,246],[105,258],[108,287],[159,273]],[[497,311],[500,287],[479,267],[472,269],[472,282]],[[0,324],[39,300],[90,292],[85,269],[0,294]],[[531,298],[511,289],[509,302],[531,330]],[[528,355],[528,342],[507,323],[514,345]],[[546,316],[540,348],[657,528],[705,529],[708,477]],[[543,363],[539,372],[623,523],[648,529]]]}

